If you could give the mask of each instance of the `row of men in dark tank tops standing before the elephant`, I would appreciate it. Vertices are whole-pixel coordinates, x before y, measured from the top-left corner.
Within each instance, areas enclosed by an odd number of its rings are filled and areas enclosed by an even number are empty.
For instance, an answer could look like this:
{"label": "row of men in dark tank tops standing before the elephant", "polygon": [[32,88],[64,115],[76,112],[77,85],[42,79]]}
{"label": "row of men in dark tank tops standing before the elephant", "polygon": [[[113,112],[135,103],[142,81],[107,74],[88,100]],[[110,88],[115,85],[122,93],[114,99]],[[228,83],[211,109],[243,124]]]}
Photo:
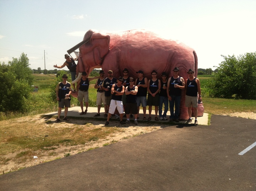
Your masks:
{"label": "row of men in dark tank tops standing before the elephant", "polygon": [[[68,55],[67,55],[68,56]],[[66,58],[66,55],[65,55]],[[69,59],[69,56],[66,58]],[[65,66],[65,63],[64,63]],[[57,65],[54,67],[58,67]],[[88,88],[89,82],[98,78],[94,88],[97,89],[97,107],[98,111],[94,117],[100,116],[101,104],[104,105],[104,117],[107,118],[105,125],[109,124],[112,115],[116,114],[116,118],[120,118],[121,124],[128,124],[130,118],[134,115],[134,124],[137,125],[139,118],[140,105],[143,108],[143,120],[151,120],[152,106],[155,107],[155,121],[167,120],[166,114],[168,111],[168,104],[170,105],[170,121],[179,122],[181,92],[185,90],[185,106],[188,108],[189,119],[186,123],[192,122],[192,108],[194,108],[194,124],[198,125],[197,121],[197,104],[198,100],[202,100],[201,87],[198,78],[194,77],[194,71],[188,70],[189,78],[186,81],[179,76],[179,69],[175,67],[174,75],[167,80],[167,73],[162,72],[161,80],[157,78],[157,72],[151,72],[151,79],[148,80],[143,76],[143,71],[139,70],[138,78],[134,80],[130,77],[127,69],[123,70],[123,77],[114,78],[113,71],[108,71],[108,77],[104,77],[104,71],[100,70],[100,77],[88,78],[86,72],[82,72],[82,77],[78,81],[76,91],[78,91],[78,100],[82,112],[80,115],[87,113],[88,108]],[[60,121],[61,109],[65,106],[64,120],[70,107],[70,94],[72,91],[71,84],[66,81],[67,76],[62,76],[63,81],[58,83],[56,87],[57,100],[59,101],[58,118],[56,122]],[[73,80],[73,77],[72,77]],[[147,98],[148,94],[148,98]],[[197,98],[199,94],[199,98]],[[84,110],[84,103],[86,109]],[[69,102],[69,103],[68,103]],[[149,118],[146,118],[146,106],[149,106]],[[164,111],[162,107],[164,105]],[[174,110],[175,107],[175,110]],[[123,121],[123,114],[125,112],[126,122]],[[118,114],[119,113],[119,116]]]}

